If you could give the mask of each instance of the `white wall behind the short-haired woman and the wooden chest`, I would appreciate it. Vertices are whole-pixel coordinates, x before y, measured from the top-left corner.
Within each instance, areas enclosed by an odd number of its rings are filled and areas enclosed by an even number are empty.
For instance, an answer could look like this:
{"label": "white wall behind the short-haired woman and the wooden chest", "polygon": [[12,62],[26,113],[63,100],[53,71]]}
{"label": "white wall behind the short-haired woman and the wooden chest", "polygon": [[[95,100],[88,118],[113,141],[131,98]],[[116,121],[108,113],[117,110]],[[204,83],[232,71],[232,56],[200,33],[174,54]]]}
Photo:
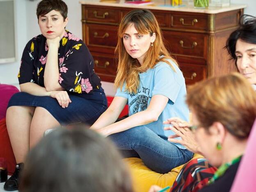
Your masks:
{"label": "white wall behind the short-haired woman and the wooden chest", "polygon": [[[66,28],[78,37],[82,38],[81,5],[79,4],[79,0],[64,1],[69,7],[69,23]],[[14,0],[14,2],[16,5],[14,12],[16,13],[16,46],[18,61],[14,63],[0,64],[0,83],[18,85],[17,74],[23,48],[25,47],[27,41],[40,34],[36,16],[37,3],[40,2],[40,0]],[[247,4],[245,14],[256,16],[254,11],[256,7],[256,0],[231,0],[231,3]],[[112,83],[103,82],[103,88],[105,89],[107,95],[114,95]]]}

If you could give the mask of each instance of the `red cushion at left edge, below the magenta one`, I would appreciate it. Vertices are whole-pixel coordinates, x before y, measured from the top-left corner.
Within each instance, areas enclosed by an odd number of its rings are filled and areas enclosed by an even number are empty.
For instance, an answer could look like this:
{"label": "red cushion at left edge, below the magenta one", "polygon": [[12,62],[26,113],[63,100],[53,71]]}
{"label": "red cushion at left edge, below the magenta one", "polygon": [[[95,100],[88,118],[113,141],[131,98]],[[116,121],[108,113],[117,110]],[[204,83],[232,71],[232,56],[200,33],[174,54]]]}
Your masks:
{"label": "red cushion at left edge, below the magenta one", "polygon": [[0,120],[0,157],[7,159],[7,171],[9,175],[12,175],[15,171],[16,160],[11,148],[5,118]]}

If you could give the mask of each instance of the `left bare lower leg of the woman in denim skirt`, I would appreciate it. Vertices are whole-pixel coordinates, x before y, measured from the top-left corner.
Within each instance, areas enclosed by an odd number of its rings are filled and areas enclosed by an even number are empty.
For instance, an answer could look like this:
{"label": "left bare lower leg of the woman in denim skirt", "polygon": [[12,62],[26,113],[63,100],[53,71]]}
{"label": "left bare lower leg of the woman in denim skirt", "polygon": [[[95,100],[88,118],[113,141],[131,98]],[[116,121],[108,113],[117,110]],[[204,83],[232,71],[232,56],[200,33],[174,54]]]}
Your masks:
{"label": "left bare lower leg of the woman in denim skirt", "polygon": [[6,125],[17,163],[24,162],[29,151],[29,133],[35,107],[11,106],[6,112]]}

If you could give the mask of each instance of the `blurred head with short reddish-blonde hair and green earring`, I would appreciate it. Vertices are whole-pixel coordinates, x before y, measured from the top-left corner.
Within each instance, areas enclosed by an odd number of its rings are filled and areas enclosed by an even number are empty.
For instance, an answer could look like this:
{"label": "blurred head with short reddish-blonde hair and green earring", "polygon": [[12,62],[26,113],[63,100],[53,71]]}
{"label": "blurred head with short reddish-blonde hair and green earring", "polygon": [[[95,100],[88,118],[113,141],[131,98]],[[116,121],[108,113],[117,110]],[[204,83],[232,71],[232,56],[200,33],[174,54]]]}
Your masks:
{"label": "blurred head with short reddish-blonde hair and green earring", "polygon": [[[201,152],[219,167],[243,153],[256,118],[256,93],[239,73],[198,82],[187,91]],[[239,154],[240,153],[240,154]]]}

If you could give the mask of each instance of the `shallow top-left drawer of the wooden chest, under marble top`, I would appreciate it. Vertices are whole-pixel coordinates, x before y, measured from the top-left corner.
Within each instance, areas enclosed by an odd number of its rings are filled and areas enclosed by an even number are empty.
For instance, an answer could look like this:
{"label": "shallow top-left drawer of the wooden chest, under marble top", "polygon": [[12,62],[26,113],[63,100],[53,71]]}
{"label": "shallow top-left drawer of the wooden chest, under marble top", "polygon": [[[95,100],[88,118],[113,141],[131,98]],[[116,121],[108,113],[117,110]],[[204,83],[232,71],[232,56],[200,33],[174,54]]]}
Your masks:
{"label": "shallow top-left drawer of the wooden chest, under marble top", "polygon": [[120,22],[121,11],[117,9],[111,9],[110,7],[89,7],[82,6],[82,19],[87,22],[99,22],[99,23],[114,23]]}

